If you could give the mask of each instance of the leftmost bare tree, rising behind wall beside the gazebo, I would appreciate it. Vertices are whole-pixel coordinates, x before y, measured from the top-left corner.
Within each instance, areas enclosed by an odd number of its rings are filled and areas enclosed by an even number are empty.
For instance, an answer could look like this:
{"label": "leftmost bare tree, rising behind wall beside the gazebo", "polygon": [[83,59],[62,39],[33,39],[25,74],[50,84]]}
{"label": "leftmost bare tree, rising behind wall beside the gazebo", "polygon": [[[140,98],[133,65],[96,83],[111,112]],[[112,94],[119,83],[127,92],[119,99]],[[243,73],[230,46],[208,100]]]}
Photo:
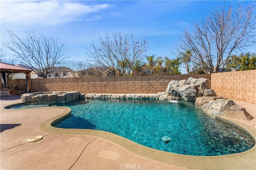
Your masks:
{"label": "leftmost bare tree, rising behind wall beside the gazebo", "polygon": [[6,29],[8,37],[2,45],[14,52],[15,57],[22,64],[30,66],[32,70],[46,78],[48,73],[54,71],[56,64],[64,63],[66,46],[59,41],[58,36],[46,36],[42,32],[26,31],[24,38]]}

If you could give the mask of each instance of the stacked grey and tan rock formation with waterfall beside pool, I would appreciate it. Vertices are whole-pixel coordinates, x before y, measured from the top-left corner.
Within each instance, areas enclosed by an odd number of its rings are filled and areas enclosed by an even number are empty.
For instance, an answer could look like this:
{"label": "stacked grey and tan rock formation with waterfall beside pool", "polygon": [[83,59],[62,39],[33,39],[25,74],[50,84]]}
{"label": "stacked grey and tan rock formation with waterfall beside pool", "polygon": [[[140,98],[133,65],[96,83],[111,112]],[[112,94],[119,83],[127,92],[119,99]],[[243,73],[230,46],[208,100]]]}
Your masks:
{"label": "stacked grey and tan rock formation with waterfall beside pool", "polygon": [[221,115],[233,119],[251,120],[253,117],[244,107],[234,104],[232,100],[222,99],[216,96],[214,90],[209,89],[209,81],[206,78],[188,78],[188,80],[172,80],[168,84],[166,93],[160,99],[182,98],[186,102],[194,102],[195,105],[209,115]]}

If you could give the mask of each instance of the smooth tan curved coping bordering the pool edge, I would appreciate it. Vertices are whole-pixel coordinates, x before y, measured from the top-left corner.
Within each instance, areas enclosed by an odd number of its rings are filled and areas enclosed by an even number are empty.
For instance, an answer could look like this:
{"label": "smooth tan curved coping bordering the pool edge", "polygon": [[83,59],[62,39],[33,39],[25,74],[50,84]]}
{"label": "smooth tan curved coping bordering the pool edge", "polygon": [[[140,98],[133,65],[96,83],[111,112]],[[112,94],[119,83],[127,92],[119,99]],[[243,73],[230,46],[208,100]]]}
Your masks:
{"label": "smooth tan curved coping bordering the pool edge", "polygon": [[[22,104],[22,103],[18,103]],[[17,104],[14,104],[17,105]],[[9,105],[10,106],[10,105]],[[172,164],[181,167],[187,168],[196,168],[196,169],[255,169],[256,168],[256,145],[245,152],[237,153],[237,154],[228,154],[222,156],[190,156],[183,154],[176,154],[171,152],[165,152],[161,150],[152,149],[114,133],[100,131],[100,130],[92,130],[92,129],[62,129],[53,127],[52,124],[64,117],[68,116],[71,113],[71,109],[69,107],[57,106],[57,107],[49,107],[51,108],[61,108],[64,109],[63,113],[45,121],[39,127],[41,131],[52,133],[52,134],[62,134],[62,135],[89,135],[94,137],[100,137],[106,139],[120,147],[129,150],[130,152],[150,158],[152,160],[156,160],[159,162],[164,162],[167,164]],[[5,108],[2,108],[5,109]],[[34,108],[39,109],[39,108]],[[6,109],[6,110],[28,110],[28,109]],[[232,122],[242,129],[248,131],[254,139],[256,139],[256,129],[247,125],[246,123],[239,122],[234,119],[217,116],[220,119],[224,119],[228,122]]]}

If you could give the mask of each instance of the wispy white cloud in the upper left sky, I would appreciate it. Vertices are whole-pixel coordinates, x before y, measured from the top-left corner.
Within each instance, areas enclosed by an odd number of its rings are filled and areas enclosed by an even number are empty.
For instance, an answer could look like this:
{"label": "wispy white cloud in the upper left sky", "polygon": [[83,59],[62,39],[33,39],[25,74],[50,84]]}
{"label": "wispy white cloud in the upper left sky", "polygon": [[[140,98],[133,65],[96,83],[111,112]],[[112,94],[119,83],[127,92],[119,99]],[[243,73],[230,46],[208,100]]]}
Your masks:
{"label": "wispy white cloud in the upper left sky", "polygon": [[54,25],[72,21],[92,21],[86,16],[111,7],[109,4],[84,5],[76,1],[1,1],[1,23]]}

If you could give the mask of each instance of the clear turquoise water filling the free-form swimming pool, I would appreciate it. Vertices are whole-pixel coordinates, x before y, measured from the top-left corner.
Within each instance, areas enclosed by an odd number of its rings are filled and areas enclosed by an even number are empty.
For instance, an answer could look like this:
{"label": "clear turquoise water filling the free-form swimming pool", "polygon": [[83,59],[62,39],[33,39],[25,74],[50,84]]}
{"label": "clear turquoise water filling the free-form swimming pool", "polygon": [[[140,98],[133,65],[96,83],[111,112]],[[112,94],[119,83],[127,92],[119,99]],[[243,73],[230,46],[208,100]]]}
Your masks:
{"label": "clear turquoise water filling the free-form swimming pool", "polygon": [[[244,152],[255,145],[242,129],[208,116],[192,103],[158,100],[90,100],[57,104],[72,109],[54,127],[97,129],[141,145],[186,155],[213,156]],[[31,108],[51,105],[23,105]],[[171,138],[164,143],[162,137]]]}

